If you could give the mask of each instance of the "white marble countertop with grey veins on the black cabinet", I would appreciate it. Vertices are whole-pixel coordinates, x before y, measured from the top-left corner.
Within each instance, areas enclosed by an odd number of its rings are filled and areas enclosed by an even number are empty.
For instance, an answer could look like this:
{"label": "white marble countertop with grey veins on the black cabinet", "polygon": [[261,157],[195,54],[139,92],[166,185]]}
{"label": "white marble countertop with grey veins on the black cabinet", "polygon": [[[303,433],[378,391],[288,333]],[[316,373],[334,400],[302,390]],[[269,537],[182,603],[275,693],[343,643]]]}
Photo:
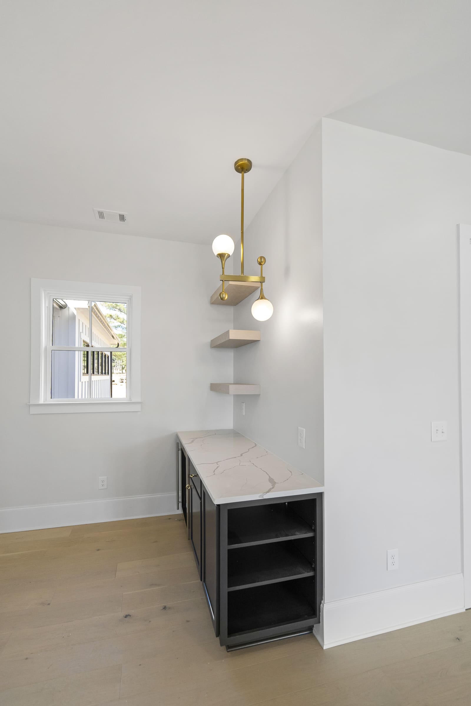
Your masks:
{"label": "white marble countertop with grey veins on the black cabinet", "polygon": [[323,492],[313,478],[234,429],[177,436],[216,505]]}

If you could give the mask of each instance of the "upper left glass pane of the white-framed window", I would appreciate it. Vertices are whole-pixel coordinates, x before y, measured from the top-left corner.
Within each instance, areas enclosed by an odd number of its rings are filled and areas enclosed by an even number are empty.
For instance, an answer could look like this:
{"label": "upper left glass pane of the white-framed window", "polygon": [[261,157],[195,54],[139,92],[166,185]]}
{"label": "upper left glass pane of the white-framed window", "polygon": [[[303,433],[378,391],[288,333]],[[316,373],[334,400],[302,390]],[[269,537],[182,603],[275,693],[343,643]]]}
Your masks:
{"label": "upper left glass pane of the white-framed window", "polygon": [[90,305],[88,301],[54,299],[52,302],[52,345],[88,345]]}

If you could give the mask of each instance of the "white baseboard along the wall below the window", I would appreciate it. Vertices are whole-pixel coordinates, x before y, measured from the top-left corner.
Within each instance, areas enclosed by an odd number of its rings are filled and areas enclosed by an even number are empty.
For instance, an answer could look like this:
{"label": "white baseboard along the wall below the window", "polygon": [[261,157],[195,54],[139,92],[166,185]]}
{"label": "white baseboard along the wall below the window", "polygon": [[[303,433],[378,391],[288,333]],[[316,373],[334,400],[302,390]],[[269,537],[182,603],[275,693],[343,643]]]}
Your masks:
{"label": "white baseboard along the wall below the window", "polygon": [[172,515],[177,512],[177,493],[0,508],[0,533],[88,525],[92,522],[112,520],[132,520],[135,517]]}

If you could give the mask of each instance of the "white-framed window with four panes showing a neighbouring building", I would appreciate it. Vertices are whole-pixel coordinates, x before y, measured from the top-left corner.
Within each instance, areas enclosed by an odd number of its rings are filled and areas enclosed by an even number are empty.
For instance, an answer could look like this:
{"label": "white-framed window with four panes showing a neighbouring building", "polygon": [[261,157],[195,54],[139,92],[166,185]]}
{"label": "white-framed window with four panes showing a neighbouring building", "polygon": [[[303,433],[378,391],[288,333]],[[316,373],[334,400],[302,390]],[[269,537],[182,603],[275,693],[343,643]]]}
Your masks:
{"label": "white-framed window with four panes showing a neighbouring building", "polygon": [[141,409],[141,288],[31,280],[30,412]]}

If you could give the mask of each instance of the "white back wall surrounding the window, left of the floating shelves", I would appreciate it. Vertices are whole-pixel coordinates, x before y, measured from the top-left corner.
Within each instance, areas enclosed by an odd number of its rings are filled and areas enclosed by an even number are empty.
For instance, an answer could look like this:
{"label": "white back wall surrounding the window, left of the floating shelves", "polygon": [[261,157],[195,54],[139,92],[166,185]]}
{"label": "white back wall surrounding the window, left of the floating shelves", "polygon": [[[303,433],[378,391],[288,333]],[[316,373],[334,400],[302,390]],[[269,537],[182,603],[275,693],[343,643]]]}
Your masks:
{"label": "white back wall surrounding the window, left of the floating shelves", "polygon": [[[232,352],[209,345],[232,328],[232,308],[209,304],[210,245],[6,221],[0,244],[0,508],[59,503],[0,509],[0,532],[174,510],[177,429],[232,426],[232,400],[209,389],[232,378]],[[30,416],[30,277],[142,287],[141,412]],[[143,498],[101,502],[129,496]]]}

